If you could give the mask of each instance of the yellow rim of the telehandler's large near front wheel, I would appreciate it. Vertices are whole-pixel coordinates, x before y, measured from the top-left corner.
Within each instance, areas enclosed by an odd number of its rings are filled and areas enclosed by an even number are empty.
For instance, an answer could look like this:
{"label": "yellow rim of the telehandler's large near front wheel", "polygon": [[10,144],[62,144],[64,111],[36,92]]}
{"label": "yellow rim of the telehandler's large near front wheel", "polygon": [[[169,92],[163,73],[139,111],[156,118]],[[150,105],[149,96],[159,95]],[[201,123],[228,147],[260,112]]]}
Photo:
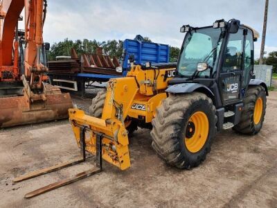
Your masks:
{"label": "yellow rim of the telehandler's large near front wheel", "polygon": [[208,117],[202,111],[195,112],[186,126],[185,145],[191,153],[202,149],[208,138]]}

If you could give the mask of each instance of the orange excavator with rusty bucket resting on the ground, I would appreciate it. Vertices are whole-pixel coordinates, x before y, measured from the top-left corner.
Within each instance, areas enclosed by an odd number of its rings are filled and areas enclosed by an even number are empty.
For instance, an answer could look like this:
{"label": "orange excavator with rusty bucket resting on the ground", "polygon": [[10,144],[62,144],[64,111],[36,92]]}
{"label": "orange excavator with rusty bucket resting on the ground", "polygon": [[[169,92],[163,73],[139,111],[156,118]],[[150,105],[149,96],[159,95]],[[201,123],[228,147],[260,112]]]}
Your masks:
{"label": "orange excavator with rusty bucket resting on the ground", "polygon": [[44,83],[50,47],[42,36],[46,8],[47,0],[1,1],[0,128],[66,119],[72,107],[69,94]]}

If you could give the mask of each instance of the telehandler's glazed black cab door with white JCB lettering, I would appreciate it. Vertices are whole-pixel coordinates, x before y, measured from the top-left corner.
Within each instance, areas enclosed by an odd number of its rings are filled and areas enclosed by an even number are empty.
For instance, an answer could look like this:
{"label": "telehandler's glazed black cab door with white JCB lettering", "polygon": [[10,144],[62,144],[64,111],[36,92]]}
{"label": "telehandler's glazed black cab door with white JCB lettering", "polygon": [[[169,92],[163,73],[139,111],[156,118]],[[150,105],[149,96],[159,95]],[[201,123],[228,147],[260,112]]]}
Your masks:
{"label": "telehandler's glazed black cab door with white JCB lettering", "polygon": [[229,34],[219,79],[223,105],[237,103],[242,99],[245,36],[242,28],[238,33]]}

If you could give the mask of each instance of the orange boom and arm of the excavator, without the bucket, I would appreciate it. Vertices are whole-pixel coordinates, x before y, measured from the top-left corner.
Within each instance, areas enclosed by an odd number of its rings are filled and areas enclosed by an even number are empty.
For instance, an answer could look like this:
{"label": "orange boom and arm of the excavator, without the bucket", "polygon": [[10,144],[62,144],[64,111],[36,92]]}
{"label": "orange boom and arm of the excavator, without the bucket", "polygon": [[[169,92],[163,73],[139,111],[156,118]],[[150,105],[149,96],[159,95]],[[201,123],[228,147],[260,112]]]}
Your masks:
{"label": "orange boom and arm of the excavator, without the bucket", "polygon": [[[30,89],[43,89],[42,76],[48,71],[40,56],[43,42],[43,26],[46,17],[46,0],[3,0],[0,6],[0,78],[19,80],[18,54],[19,43],[17,24],[25,7],[25,73],[30,80]],[[10,71],[10,78],[3,72]],[[6,73],[8,75],[8,73]]]}

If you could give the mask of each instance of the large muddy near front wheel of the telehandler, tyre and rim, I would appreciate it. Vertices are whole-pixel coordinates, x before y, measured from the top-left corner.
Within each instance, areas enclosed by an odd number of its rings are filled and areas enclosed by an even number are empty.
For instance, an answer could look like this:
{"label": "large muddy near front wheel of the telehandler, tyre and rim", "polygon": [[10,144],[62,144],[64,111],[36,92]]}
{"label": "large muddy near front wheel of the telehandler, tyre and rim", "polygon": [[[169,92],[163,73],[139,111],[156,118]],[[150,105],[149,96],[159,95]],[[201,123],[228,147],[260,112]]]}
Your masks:
{"label": "large muddy near front wheel of the telehandler, tyre and rim", "polygon": [[[199,166],[211,151],[211,144],[217,132],[215,112],[211,98],[205,94],[170,94],[157,108],[157,116],[152,120],[152,147],[157,155],[177,168],[190,169]],[[192,119],[195,114],[201,114],[199,118],[203,119]],[[208,130],[203,128],[205,125]],[[191,126],[195,127],[190,131]],[[204,133],[198,134],[199,130]],[[202,144],[193,148],[190,142],[192,140],[189,139],[195,139],[194,144],[199,141],[202,141]]]}

